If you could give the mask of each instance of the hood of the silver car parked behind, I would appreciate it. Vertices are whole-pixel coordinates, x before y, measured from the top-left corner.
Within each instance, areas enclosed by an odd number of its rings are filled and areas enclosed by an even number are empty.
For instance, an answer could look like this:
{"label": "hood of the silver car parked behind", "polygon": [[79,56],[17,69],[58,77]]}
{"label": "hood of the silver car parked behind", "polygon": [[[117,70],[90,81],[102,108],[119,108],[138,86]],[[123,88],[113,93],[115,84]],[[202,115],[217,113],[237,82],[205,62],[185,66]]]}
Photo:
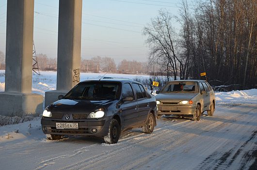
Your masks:
{"label": "hood of the silver car parked behind", "polygon": [[155,98],[161,102],[178,103],[183,100],[190,100],[195,95],[197,95],[197,93],[159,93],[155,96]]}

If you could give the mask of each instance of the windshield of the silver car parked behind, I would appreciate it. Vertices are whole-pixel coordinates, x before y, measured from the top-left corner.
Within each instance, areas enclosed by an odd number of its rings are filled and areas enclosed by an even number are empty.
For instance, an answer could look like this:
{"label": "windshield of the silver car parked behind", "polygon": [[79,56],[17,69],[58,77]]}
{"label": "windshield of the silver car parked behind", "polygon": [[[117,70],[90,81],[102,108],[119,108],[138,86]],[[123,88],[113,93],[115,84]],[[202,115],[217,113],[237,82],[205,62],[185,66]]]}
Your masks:
{"label": "windshield of the silver car parked behind", "polygon": [[199,93],[197,82],[193,81],[169,81],[161,89],[168,93]]}

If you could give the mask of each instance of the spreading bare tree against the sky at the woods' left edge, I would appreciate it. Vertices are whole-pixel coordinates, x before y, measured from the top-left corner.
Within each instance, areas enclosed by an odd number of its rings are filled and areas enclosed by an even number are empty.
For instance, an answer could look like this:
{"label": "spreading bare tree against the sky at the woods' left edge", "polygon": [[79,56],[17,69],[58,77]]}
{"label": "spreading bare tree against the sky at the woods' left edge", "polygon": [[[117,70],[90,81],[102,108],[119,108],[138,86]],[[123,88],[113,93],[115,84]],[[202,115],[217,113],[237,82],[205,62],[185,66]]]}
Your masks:
{"label": "spreading bare tree against the sky at the woods' left edge", "polygon": [[[178,71],[183,67],[182,61],[177,57],[176,32],[173,28],[174,17],[166,10],[161,9],[156,18],[144,28],[146,43],[149,45],[149,62],[165,60],[167,71],[171,71],[176,80]],[[171,69],[170,69],[171,68]]]}

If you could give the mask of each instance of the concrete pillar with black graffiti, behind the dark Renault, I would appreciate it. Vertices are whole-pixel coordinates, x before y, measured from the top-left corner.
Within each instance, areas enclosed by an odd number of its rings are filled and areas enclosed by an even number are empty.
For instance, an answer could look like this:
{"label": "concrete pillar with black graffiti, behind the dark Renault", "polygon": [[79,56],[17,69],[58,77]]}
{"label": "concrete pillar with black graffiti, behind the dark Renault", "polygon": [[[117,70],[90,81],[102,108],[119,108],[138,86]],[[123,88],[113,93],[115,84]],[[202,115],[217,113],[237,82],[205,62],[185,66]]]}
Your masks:
{"label": "concrete pillar with black graffiti, behind the dark Renault", "polygon": [[45,93],[45,106],[80,81],[82,0],[59,0],[57,85]]}

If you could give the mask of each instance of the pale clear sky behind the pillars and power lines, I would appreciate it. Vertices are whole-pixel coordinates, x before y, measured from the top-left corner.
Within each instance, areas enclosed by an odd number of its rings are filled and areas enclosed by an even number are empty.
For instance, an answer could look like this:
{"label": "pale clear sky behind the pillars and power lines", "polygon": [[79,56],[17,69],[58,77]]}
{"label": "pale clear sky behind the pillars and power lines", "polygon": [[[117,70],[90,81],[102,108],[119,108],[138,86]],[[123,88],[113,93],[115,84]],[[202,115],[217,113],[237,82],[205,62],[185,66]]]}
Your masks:
{"label": "pale clear sky behind the pillars and power lines", "polygon": [[[81,58],[111,57],[146,62],[143,28],[161,8],[178,15],[180,0],[83,0]],[[59,0],[34,0],[37,54],[57,58]],[[7,0],[0,0],[0,51],[5,54]],[[177,27],[177,23],[175,26]]]}

